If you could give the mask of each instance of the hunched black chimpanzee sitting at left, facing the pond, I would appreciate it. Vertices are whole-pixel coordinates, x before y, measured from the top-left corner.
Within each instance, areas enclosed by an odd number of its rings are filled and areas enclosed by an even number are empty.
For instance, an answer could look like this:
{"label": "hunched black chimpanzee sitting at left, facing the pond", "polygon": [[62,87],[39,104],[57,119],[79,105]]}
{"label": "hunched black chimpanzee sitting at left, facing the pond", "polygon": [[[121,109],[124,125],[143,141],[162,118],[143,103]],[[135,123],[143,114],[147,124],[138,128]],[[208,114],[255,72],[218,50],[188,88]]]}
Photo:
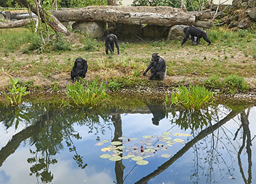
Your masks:
{"label": "hunched black chimpanzee sitting at left, facing the pond", "polygon": [[74,67],[71,70],[71,79],[73,80],[73,82],[78,77],[85,77],[87,68],[88,68],[88,65],[85,59],[82,59],[82,57],[78,57],[77,59],[75,59]]}

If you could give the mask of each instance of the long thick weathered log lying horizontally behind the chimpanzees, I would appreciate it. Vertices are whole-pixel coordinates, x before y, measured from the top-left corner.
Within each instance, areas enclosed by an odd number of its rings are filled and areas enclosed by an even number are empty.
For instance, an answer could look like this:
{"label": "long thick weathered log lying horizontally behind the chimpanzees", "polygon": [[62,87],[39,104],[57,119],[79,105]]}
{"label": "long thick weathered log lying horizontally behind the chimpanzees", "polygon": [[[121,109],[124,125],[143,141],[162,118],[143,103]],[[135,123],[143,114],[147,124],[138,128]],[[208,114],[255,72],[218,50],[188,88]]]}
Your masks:
{"label": "long thick weathered log lying horizontally behind the chimpanzees", "polygon": [[87,6],[85,8],[53,11],[60,22],[100,21],[124,24],[153,24],[172,26],[194,25],[196,17],[179,8],[168,6]]}

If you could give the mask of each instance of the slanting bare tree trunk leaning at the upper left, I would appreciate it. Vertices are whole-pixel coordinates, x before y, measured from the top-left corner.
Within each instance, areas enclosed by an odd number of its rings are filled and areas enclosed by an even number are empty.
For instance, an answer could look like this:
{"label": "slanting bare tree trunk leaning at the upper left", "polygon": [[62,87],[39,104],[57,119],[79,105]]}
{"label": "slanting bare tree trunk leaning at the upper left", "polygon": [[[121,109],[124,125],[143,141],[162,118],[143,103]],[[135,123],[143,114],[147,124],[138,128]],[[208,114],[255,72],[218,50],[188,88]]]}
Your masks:
{"label": "slanting bare tree trunk leaning at the upper left", "polygon": [[[19,4],[22,4],[23,6],[25,6],[26,8],[28,8],[28,1],[27,0],[15,0],[16,2],[18,2]],[[43,10],[43,8],[40,6],[38,7],[39,8],[39,11],[40,11],[40,15],[41,16],[41,19],[43,21],[46,21],[48,23],[48,25],[50,25],[50,28],[53,28],[53,30],[57,33],[64,33],[65,35],[69,36],[71,35],[72,33],[67,29],[65,28],[65,26],[60,23],[60,21],[58,21],[57,18],[55,18],[55,16],[53,15],[49,15],[49,17],[47,17],[46,19],[43,17],[43,14],[46,13],[46,11]],[[36,11],[36,8],[31,6],[31,11],[33,11],[33,13],[36,13],[36,15],[38,15],[37,11]],[[51,21],[50,21],[51,20]]]}

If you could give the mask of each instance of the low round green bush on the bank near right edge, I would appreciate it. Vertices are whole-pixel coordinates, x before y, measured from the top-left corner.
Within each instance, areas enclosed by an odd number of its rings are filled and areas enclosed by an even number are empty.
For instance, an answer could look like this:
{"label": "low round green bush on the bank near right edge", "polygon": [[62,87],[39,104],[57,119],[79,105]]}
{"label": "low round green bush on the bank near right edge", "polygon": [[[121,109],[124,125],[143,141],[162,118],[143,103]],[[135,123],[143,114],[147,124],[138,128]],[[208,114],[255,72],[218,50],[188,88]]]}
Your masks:
{"label": "low round green bush on the bank near right edge", "polygon": [[230,75],[225,77],[224,84],[230,90],[230,93],[246,91],[249,88],[249,85],[245,82],[245,79],[238,75]]}

